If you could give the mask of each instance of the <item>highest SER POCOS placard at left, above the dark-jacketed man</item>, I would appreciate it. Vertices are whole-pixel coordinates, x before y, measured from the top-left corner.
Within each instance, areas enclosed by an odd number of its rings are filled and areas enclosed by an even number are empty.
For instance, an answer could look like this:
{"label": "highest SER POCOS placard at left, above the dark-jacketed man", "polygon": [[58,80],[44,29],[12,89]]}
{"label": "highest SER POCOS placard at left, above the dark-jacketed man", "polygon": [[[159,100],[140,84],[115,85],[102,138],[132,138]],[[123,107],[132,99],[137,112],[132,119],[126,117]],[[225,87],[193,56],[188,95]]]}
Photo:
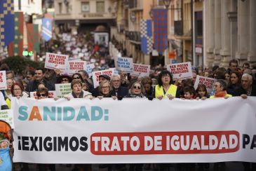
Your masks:
{"label": "highest SER POCOS placard at left, above the dark-jacketed man", "polygon": [[61,55],[55,53],[46,53],[45,68],[48,69],[67,69],[67,61],[69,60],[68,55]]}

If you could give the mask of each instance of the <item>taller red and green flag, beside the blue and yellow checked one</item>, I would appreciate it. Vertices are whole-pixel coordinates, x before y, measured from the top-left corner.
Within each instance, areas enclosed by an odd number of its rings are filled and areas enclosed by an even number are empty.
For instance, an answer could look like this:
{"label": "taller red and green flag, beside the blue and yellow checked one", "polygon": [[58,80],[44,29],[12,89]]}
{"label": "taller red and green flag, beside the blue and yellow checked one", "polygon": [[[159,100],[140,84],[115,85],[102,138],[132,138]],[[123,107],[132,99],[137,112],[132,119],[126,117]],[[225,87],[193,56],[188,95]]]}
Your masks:
{"label": "taller red and green flag, beside the blue and yellow checked one", "polygon": [[15,34],[14,41],[8,45],[8,55],[9,56],[22,56],[23,52],[23,31],[24,31],[24,18],[22,12],[15,12]]}

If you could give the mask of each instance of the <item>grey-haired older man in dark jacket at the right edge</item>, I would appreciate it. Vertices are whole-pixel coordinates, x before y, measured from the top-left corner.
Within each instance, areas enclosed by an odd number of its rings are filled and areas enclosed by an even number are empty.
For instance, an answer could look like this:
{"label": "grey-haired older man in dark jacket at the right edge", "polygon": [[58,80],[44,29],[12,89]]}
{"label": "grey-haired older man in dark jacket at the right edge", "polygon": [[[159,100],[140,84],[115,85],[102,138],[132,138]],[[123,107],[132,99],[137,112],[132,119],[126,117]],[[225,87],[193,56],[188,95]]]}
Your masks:
{"label": "grey-haired older man in dark jacket at the right edge", "polygon": [[241,96],[244,99],[247,96],[256,96],[256,86],[252,84],[252,76],[250,74],[243,74],[241,79],[241,87],[235,90],[235,96]]}

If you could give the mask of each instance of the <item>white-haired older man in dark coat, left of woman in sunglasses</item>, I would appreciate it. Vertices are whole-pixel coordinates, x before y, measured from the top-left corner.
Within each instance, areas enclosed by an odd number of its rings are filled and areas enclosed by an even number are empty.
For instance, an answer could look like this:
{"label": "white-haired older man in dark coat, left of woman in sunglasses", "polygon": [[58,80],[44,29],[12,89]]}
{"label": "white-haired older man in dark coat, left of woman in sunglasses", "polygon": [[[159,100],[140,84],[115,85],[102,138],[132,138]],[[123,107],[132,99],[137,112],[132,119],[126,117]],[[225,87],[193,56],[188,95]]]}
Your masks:
{"label": "white-haired older man in dark coat, left of woman in sunglasses", "polygon": [[121,76],[113,75],[111,78],[112,96],[124,97],[128,95],[128,88],[121,86]]}

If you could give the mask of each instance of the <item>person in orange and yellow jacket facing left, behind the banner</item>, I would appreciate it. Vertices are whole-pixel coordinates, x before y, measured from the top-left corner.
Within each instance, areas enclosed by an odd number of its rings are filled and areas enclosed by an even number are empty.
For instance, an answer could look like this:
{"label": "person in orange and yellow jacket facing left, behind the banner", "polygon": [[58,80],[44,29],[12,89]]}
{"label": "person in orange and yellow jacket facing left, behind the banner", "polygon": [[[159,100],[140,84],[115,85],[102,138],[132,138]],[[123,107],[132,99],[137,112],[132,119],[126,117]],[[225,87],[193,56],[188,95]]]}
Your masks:
{"label": "person in orange and yellow jacket facing left, behind the banner", "polygon": [[210,98],[224,97],[227,99],[232,97],[232,95],[227,94],[227,82],[222,79],[215,81],[213,90],[215,90],[215,95],[210,96]]}

